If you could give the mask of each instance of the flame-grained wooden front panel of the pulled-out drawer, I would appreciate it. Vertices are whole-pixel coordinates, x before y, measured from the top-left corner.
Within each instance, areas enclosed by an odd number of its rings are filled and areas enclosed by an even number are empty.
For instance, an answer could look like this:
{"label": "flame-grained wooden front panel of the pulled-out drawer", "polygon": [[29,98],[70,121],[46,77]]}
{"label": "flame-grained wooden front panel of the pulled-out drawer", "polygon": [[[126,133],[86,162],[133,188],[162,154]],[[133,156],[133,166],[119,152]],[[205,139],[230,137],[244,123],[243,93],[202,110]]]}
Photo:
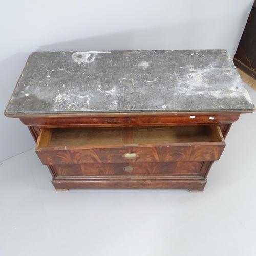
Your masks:
{"label": "flame-grained wooden front panel of the pulled-out drawer", "polygon": [[[45,165],[83,163],[135,163],[218,160],[224,145],[173,145],[159,147],[90,148],[77,150],[40,150]],[[136,159],[123,156],[134,153]]]}

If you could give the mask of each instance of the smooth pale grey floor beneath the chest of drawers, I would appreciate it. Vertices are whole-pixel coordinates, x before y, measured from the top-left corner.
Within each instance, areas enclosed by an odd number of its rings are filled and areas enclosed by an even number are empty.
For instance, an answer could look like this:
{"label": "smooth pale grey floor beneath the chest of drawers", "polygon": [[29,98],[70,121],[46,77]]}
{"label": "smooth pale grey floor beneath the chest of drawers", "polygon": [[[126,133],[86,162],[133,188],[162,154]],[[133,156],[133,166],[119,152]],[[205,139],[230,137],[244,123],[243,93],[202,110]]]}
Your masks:
{"label": "smooth pale grey floor beneath the chest of drawers", "polygon": [[233,124],[203,193],[55,191],[34,150],[0,163],[0,255],[255,256],[255,127]]}

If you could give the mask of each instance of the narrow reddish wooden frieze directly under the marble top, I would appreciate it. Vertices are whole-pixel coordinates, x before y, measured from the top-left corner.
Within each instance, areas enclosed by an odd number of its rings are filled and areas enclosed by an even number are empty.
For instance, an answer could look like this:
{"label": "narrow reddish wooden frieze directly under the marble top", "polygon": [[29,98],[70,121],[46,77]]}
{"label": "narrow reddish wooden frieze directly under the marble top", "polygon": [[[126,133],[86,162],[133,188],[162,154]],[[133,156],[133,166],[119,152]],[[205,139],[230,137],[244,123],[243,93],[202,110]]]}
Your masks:
{"label": "narrow reddish wooden frieze directly under the marble top", "polygon": [[[174,113],[163,115],[161,113],[116,113],[97,114],[96,116],[78,117],[44,117],[35,115],[31,118],[23,117],[20,120],[28,126],[39,126],[47,128],[68,128],[68,127],[101,127],[101,126],[169,126],[169,125],[202,125],[202,124],[221,124],[233,123],[238,120],[240,114],[216,114],[216,113],[186,113],[185,115]],[[75,114],[73,114],[75,116]],[[195,116],[195,118],[190,118]],[[214,119],[209,119],[210,117]]]}

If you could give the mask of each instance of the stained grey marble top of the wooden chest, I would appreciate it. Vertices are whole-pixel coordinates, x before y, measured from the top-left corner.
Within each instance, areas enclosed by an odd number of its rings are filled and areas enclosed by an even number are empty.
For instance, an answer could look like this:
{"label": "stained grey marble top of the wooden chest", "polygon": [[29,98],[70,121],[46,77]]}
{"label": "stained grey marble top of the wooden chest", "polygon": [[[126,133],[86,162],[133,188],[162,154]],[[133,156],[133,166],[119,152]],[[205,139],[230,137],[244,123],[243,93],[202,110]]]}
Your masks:
{"label": "stained grey marble top of the wooden chest", "polygon": [[34,52],[6,115],[251,112],[225,50]]}

